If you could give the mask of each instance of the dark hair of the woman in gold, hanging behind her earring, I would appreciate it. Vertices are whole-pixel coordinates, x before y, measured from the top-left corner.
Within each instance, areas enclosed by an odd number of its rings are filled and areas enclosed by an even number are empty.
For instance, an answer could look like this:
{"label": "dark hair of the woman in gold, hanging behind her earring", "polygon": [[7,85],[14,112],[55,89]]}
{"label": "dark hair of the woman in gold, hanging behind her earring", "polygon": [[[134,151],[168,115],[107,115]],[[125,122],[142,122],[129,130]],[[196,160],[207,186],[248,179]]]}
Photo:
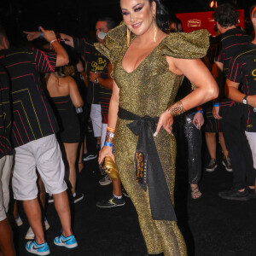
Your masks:
{"label": "dark hair of the woman in gold, hanging behind her earring", "polygon": [[167,32],[169,29],[169,12],[160,0],[148,0],[150,5],[156,3],[156,24],[160,30]]}

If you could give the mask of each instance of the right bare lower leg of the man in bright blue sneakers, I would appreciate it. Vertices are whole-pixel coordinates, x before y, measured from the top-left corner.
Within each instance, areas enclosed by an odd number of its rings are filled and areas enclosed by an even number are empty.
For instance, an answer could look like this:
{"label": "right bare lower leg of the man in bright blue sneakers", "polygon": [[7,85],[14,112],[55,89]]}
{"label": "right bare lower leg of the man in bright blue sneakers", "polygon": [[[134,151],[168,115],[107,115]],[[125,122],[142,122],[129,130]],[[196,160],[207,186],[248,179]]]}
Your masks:
{"label": "right bare lower leg of the man in bright blue sneakers", "polygon": [[69,201],[67,197],[67,191],[60,194],[53,195],[55,201],[55,209],[58,212],[59,218],[61,220],[62,234],[63,236],[71,236],[71,215]]}

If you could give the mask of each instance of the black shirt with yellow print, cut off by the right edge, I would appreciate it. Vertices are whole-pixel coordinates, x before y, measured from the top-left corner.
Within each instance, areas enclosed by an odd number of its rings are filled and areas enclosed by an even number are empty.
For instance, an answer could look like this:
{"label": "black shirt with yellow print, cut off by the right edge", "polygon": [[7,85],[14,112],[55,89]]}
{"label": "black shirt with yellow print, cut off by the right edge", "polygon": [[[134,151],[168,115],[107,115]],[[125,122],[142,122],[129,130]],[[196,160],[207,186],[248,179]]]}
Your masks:
{"label": "black shirt with yellow print, cut off by the right edge", "polygon": [[[227,79],[242,82],[241,90],[248,96],[256,95],[256,44],[249,43],[230,62]],[[256,108],[245,106],[246,131],[256,132]]]}

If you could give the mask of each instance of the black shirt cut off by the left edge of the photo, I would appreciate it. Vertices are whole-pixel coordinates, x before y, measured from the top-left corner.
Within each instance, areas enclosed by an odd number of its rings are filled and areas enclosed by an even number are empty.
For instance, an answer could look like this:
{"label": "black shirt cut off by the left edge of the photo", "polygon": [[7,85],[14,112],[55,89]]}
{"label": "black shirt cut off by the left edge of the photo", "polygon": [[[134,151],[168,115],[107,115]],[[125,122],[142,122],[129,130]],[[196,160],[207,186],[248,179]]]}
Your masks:
{"label": "black shirt cut off by the left edge of the photo", "polygon": [[11,104],[9,95],[9,76],[0,64],[0,158],[12,154],[9,141],[12,127]]}

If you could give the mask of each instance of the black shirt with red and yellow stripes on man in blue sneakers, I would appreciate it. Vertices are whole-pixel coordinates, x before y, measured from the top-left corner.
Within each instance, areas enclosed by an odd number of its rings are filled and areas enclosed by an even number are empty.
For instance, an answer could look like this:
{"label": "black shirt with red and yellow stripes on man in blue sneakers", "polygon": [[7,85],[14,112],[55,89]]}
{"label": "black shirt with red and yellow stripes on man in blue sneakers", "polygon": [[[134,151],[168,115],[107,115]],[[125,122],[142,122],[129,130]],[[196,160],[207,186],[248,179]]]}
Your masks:
{"label": "black shirt with red and yellow stripes on man in blue sneakers", "polygon": [[55,71],[56,54],[39,49],[3,49],[0,62],[11,81],[14,147],[55,133],[58,126],[44,96],[40,74]]}

